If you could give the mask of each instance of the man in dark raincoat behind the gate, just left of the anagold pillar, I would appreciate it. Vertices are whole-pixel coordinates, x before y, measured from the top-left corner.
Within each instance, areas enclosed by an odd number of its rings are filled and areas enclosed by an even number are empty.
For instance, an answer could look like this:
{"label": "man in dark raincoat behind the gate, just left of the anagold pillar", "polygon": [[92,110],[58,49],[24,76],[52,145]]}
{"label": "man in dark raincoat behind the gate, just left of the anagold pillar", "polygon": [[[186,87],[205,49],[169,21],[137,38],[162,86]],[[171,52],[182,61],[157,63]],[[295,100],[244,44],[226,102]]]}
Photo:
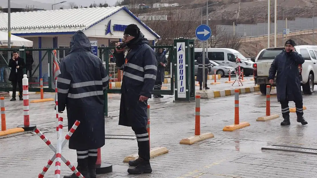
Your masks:
{"label": "man in dark raincoat behind the gate, just left of the anagold pillar", "polygon": [[[156,60],[158,61],[158,73],[156,75],[154,89],[161,89],[162,83],[164,82],[165,67],[167,65],[167,60],[166,60],[166,56],[164,54],[163,48],[158,49],[158,52],[156,53]],[[159,95],[153,95],[153,97],[163,98],[164,96],[159,94]]]}

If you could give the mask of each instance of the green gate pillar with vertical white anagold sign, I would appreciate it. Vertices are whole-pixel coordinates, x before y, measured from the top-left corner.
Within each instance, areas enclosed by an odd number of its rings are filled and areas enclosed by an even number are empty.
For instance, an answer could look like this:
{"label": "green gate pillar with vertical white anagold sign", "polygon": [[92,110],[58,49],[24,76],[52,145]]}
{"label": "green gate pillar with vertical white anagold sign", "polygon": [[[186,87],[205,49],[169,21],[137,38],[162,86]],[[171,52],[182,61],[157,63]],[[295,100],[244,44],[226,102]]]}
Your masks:
{"label": "green gate pillar with vertical white anagold sign", "polygon": [[175,101],[195,100],[194,40],[174,40]]}

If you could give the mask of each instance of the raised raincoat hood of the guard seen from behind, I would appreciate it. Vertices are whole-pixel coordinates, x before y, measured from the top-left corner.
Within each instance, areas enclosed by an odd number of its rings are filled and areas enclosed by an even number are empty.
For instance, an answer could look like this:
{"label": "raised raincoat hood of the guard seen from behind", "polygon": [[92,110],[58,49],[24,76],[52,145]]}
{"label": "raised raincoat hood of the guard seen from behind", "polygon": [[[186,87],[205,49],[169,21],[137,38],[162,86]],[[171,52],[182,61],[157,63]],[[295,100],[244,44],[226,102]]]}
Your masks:
{"label": "raised raincoat hood of the guard seen from behind", "polygon": [[88,37],[81,30],[75,32],[70,40],[70,52],[73,52],[77,49],[83,49],[87,51],[91,51],[91,44]]}

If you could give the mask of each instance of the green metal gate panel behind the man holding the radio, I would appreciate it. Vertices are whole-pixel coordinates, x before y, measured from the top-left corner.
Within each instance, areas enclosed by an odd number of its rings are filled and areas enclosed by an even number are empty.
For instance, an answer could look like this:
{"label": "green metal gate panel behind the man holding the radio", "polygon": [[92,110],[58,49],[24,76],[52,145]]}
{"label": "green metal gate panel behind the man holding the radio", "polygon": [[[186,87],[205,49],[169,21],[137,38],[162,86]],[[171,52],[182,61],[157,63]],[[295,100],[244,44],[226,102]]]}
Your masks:
{"label": "green metal gate panel behind the man holding the radio", "polygon": [[[167,59],[167,65],[165,67],[165,77],[160,90],[153,89],[152,95],[174,95],[174,71],[175,71],[175,59],[174,59],[174,46],[151,46],[152,49],[157,52],[159,48],[165,49],[165,56]],[[118,70],[116,66],[116,59],[113,52],[115,47],[98,47],[99,58],[102,60],[104,67],[108,71],[109,75],[109,87],[105,90],[105,116],[108,116],[108,93],[120,94],[123,71]],[[127,52],[127,51],[126,51]]]}

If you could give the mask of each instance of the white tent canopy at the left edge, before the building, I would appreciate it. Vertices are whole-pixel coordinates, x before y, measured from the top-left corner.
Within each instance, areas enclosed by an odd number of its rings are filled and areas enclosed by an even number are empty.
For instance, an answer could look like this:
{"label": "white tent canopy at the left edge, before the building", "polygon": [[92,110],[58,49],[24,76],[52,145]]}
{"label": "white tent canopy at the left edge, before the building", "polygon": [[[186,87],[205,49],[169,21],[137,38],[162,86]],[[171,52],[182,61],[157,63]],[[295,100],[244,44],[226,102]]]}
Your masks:
{"label": "white tent canopy at the left edge, before the building", "polygon": [[[8,46],[8,33],[0,31],[0,48]],[[33,41],[11,34],[11,47],[33,47]]]}

